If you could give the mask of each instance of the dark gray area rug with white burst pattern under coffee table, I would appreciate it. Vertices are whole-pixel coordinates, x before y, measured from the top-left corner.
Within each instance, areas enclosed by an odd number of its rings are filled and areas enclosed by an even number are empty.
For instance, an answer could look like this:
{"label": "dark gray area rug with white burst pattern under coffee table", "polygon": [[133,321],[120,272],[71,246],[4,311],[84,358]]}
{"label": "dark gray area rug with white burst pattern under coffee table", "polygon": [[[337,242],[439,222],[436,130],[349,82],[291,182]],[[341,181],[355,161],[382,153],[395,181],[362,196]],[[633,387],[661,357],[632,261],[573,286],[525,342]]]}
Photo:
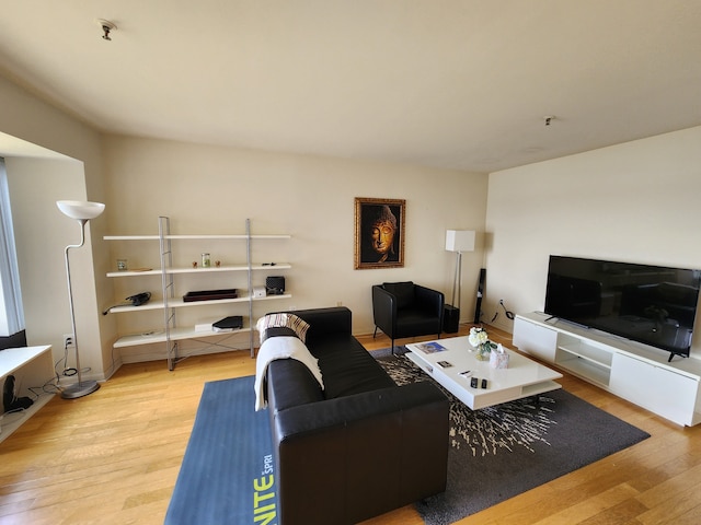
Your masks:
{"label": "dark gray area rug with white burst pattern under coffee table", "polygon": [[[371,353],[399,385],[433,381],[402,351]],[[650,438],[562,389],[474,411],[444,392],[451,401],[448,486],[416,503],[428,525],[453,523]]]}

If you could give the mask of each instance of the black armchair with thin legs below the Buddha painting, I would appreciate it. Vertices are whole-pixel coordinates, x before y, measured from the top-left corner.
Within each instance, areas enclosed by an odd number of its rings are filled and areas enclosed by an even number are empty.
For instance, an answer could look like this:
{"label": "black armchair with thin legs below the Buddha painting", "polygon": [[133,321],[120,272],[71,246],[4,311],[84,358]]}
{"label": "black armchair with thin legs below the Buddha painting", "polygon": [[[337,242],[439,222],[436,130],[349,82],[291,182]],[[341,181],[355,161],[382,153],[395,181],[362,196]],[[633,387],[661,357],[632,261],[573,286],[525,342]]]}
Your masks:
{"label": "black armchair with thin legs below the Buddha painting", "polygon": [[386,282],[372,287],[375,334],[382,330],[392,339],[436,334],[443,329],[445,298],[443,292],[411,281]]}

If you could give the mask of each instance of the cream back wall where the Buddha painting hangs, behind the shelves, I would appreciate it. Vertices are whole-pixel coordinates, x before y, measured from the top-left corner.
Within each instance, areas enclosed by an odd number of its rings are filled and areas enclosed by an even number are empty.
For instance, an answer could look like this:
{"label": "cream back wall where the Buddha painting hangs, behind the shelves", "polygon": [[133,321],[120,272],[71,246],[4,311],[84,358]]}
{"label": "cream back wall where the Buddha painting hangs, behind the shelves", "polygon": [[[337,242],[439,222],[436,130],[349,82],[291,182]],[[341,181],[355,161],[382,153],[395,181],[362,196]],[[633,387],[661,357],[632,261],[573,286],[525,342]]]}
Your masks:
{"label": "cream back wall where the Buddha painting hangs, behind the shelves", "polygon": [[[171,218],[174,234],[243,233],[244,221],[250,218],[252,233],[292,235],[290,241],[276,242],[269,250],[260,252],[261,245],[254,244],[254,261],[289,261],[294,267],[283,273],[294,298],[261,304],[255,316],[272,310],[342,303],[353,311],[354,331],[371,332],[372,284],[413,280],[444,291],[449,300],[455,254],[445,250],[445,230],[484,228],[486,175],[125,137],[106,138],[104,155],[112,234],[156,234],[157,218],[163,214]],[[354,269],[355,197],[406,200],[404,268]],[[148,248],[151,252],[146,256],[134,243],[110,243],[111,264],[127,257],[131,267],[158,266],[156,248]],[[200,252],[211,253],[212,260],[245,260],[241,252],[237,257],[229,249],[226,243],[174,248],[187,252],[185,264],[197,260]],[[466,320],[473,316],[482,255],[480,248],[463,257]],[[160,280],[148,279],[113,279],[115,300],[140,289],[158,292]],[[192,290],[188,287],[198,284],[207,289],[212,282],[188,281],[176,290],[185,293]],[[226,285],[232,282],[222,280],[214,288],[246,288],[245,283]],[[181,320],[187,316],[189,322],[208,320],[219,313],[237,313],[185,310],[179,311]],[[162,320],[134,314],[114,317],[119,332],[142,331],[148,323]],[[151,351],[135,347],[123,353],[131,360],[135,354]]]}

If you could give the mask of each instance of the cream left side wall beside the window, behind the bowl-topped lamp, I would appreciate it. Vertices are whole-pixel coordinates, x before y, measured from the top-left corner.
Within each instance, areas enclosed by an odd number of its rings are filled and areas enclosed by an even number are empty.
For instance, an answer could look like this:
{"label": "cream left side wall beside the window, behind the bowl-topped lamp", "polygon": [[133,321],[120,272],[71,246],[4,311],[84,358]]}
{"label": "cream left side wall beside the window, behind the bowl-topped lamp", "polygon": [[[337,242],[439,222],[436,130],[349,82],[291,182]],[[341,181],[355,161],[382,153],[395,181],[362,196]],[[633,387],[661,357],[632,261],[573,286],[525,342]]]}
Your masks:
{"label": "cream left side wall beside the window, behind the bowl-topped lamp", "polygon": [[[5,141],[0,140],[0,154],[7,159],[10,198],[14,198],[13,187],[22,187],[22,191],[26,191],[18,196],[22,205],[12,209],[15,228],[20,232],[15,231],[18,250],[24,254],[19,254],[19,257],[25,257],[20,269],[23,291],[28,289],[31,295],[27,301],[32,305],[37,304],[36,295],[41,293],[43,284],[47,290],[55,291],[44,294],[38,311],[26,312],[25,306],[27,339],[33,345],[53,345],[54,354],[62,354],[61,335],[71,331],[64,247],[74,242],[77,235],[80,238],[80,232],[74,221],[58,211],[54,199],[104,199],[100,135],[2,77],[0,115],[0,133],[13,138],[9,148]],[[20,155],[13,151],[16,144],[23,144]],[[74,164],[66,167],[67,164],[51,166],[39,161],[34,163],[34,154],[46,158],[46,150],[57,153],[49,154],[49,158],[61,158],[68,164]],[[30,178],[19,180],[13,173],[24,173]],[[67,173],[68,178],[57,184]],[[36,192],[37,199],[32,199],[32,192]],[[76,264],[81,276],[74,281],[73,288],[81,365],[89,366],[91,372],[87,376],[94,378],[104,377],[105,363],[112,351],[112,345],[103,334],[105,330],[108,332],[110,320],[100,319],[96,315],[96,304],[103,301],[101,298],[106,289],[94,279],[95,272],[104,273],[103,268],[106,268],[104,249],[101,249],[105,225],[103,218],[89,223],[88,245],[77,254]],[[61,247],[57,252],[55,248],[58,245]],[[112,293],[112,290],[108,292]],[[50,316],[48,324],[43,318],[45,314]]]}

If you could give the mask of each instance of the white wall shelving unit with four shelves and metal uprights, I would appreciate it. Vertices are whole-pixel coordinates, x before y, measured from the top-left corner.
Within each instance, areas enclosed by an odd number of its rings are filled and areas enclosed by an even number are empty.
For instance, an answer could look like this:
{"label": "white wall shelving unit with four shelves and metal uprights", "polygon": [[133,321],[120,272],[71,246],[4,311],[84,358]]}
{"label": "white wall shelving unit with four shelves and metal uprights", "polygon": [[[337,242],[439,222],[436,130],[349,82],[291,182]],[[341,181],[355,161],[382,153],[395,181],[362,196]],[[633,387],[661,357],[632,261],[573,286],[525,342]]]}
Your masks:
{"label": "white wall shelving unit with four shelves and metal uprights", "polygon": [[[158,235],[105,235],[105,241],[135,241],[135,242],[158,242],[160,249],[160,268],[158,269],[143,269],[143,270],[126,270],[126,271],[111,271],[107,277],[115,279],[134,279],[145,276],[160,276],[161,277],[161,298],[154,298],[148,303],[140,306],[133,305],[119,305],[108,308],[108,313],[124,314],[124,313],[139,313],[146,311],[162,311],[163,322],[162,325],[153,330],[146,330],[139,334],[129,334],[120,336],[115,342],[114,348],[126,348],[138,345],[152,345],[152,343],[165,343],[166,351],[165,357],[168,360],[169,370],[173,370],[177,361],[181,359],[179,354],[179,341],[185,339],[200,339],[207,337],[226,336],[231,332],[220,331],[203,331],[196,330],[194,326],[180,326],[177,323],[176,313],[180,308],[185,307],[206,307],[211,305],[222,304],[245,304],[248,306],[248,324],[244,323],[244,327],[237,330],[237,334],[249,332],[249,346],[251,357],[255,357],[253,331],[254,327],[251,326],[253,322],[253,303],[257,301],[272,301],[279,299],[289,299],[292,295],[285,293],[281,295],[266,295],[263,298],[253,296],[253,279],[254,272],[269,272],[278,270],[289,270],[291,265],[287,262],[276,262],[274,266],[264,264],[253,264],[252,261],[252,248],[253,243],[273,241],[273,240],[289,240],[290,235],[252,235],[251,234],[251,221],[245,221],[245,234],[234,235],[174,235],[170,230],[170,218],[159,217],[159,234]],[[203,268],[199,265],[195,267],[176,267],[173,266],[173,241],[196,241],[196,242],[211,242],[221,243],[230,242],[232,244],[243,243],[245,246],[245,264],[238,265],[223,265],[211,266],[209,268]],[[176,279],[179,282],[186,282],[188,277],[197,276],[199,279],[202,276],[221,277],[222,275],[243,275],[242,278],[232,279],[234,284],[240,283],[245,279],[248,289],[243,290],[240,285],[231,285],[238,290],[238,296],[234,299],[217,299],[207,301],[193,301],[186,302],[183,300],[182,294],[175,293]]]}

